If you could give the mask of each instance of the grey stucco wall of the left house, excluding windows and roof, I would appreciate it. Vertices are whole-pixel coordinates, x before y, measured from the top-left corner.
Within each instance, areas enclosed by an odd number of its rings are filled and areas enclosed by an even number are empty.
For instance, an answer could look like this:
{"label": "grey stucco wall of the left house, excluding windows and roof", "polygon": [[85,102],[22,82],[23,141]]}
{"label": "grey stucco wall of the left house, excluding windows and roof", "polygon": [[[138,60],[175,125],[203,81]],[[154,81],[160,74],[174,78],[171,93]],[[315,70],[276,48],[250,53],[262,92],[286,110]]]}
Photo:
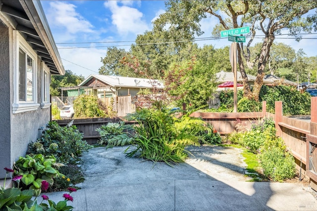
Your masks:
{"label": "grey stucco wall of the left house, excluding windows and roof", "polygon": [[[14,69],[16,61],[13,29],[0,20],[0,179],[5,177],[3,168],[12,168],[19,156],[25,156],[28,144],[41,135],[41,127],[50,121],[50,107],[41,108],[43,65],[37,59],[37,110],[13,114]],[[8,175],[9,176],[9,175]]]}

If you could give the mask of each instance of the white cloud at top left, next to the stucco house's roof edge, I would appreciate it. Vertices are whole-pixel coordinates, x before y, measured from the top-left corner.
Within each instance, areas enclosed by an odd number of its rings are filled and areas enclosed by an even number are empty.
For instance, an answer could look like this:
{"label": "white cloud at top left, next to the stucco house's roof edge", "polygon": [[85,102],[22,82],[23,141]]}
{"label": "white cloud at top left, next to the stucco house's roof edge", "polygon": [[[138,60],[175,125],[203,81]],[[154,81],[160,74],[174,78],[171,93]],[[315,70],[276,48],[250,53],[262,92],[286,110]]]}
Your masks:
{"label": "white cloud at top left, next to the stucco house's roof edge", "polygon": [[78,32],[92,33],[94,26],[78,12],[76,6],[71,3],[53,1],[50,2],[48,17],[50,25],[64,28],[66,33],[76,34]]}

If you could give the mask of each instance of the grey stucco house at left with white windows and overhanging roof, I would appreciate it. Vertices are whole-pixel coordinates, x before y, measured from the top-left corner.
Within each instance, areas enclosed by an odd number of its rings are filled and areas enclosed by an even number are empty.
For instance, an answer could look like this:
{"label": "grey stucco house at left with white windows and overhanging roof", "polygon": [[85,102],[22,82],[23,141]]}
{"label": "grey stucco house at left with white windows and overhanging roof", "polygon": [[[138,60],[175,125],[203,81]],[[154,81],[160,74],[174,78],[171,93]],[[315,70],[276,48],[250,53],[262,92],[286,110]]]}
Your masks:
{"label": "grey stucco house at left with white windows and overhanging roof", "polygon": [[0,178],[51,119],[50,77],[64,75],[39,0],[0,0]]}

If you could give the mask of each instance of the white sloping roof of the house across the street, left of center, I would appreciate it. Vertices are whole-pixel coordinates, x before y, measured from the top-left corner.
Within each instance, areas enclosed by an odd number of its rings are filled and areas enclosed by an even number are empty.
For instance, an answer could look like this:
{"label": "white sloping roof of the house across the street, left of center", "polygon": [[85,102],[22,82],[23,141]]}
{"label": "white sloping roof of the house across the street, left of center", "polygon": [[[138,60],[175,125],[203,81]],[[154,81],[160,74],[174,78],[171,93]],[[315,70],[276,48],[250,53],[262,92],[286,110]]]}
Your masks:
{"label": "white sloping roof of the house across the street, left of center", "polygon": [[104,84],[111,85],[113,87],[136,87],[136,88],[163,88],[163,83],[159,80],[150,80],[142,78],[130,78],[121,76],[105,76],[105,75],[90,75],[78,86],[85,85],[91,79],[96,78],[103,82]]}

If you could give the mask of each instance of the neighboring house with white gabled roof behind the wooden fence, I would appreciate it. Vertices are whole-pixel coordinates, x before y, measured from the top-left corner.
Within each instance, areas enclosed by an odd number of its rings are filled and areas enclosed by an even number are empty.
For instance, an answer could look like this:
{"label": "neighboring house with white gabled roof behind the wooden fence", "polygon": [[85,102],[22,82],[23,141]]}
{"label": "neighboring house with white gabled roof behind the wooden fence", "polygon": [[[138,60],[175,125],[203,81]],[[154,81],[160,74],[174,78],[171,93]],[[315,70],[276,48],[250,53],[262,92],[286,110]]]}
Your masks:
{"label": "neighboring house with white gabled roof behind the wooden fence", "polygon": [[130,78],[120,76],[90,75],[78,86],[64,87],[68,96],[81,94],[94,94],[99,98],[131,95],[135,96],[141,89],[163,88],[163,83],[158,80]]}

